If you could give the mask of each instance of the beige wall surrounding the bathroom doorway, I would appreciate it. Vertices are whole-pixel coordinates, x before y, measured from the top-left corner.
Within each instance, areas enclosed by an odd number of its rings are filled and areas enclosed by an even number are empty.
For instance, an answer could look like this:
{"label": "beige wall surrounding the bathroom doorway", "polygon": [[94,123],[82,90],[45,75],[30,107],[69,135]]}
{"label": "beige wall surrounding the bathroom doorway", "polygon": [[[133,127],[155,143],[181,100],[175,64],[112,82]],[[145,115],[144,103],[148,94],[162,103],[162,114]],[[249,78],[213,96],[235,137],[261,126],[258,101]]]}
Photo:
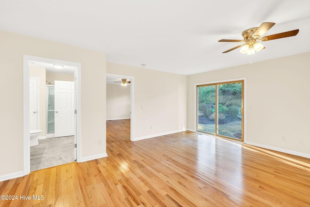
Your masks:
{"label": "beige wall surrounding the bathroom doorway", "polygon": [[105,154],[106,54],[2,31],[0,45],[0,176],[24,169],[23,55],[81,64],[81,158]]}

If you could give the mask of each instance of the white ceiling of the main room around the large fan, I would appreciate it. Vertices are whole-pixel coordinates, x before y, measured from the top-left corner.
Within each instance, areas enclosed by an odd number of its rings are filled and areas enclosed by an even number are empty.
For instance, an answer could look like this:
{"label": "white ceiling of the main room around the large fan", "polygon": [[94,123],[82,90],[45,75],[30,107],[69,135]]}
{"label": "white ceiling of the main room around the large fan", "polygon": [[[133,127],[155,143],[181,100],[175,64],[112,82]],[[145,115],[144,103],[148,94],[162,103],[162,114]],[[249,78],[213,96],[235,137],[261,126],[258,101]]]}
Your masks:
{"label": "white ceiling of the main room around the large fan", "polygon": [[263,42],[251,61],[310,51],[310,0],[1,0],[0,30],[99,50],[107,61],[178,74],[196,74],[250,58],[241,33],[262,22],[265,35],[299,29],[294,37]]}

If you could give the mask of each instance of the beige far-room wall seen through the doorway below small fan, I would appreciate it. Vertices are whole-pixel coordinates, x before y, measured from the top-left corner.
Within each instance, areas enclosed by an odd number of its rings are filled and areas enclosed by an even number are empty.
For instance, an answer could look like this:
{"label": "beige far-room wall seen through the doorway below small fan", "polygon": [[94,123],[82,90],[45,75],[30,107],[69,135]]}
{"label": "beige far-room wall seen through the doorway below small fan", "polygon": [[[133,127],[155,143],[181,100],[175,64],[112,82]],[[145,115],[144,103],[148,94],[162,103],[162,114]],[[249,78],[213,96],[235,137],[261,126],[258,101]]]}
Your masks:
{"label": "beige far-room wall seen through the doorway below small fan", "polygon": [[130,85],[107,84],[107,120],[130,118]]}

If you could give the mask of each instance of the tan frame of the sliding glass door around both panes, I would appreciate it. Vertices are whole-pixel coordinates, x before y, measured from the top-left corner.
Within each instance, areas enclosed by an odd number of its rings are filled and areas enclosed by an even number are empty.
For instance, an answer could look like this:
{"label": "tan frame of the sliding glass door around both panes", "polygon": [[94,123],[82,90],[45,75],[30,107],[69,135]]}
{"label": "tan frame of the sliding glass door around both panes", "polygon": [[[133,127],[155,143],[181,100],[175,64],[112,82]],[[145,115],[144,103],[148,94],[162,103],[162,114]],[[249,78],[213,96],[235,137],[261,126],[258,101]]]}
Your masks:
{"label": "tan frame of the sliding glass door around both panes", "polygon": [[[217,134],[217,123],[216,123],[216,130],[215,130],[215,133],[209,133],[209,132],[206,132],[206,131],[202,131],[202,130],[199,130],[198,129],[198,119],[199,119],[199,116],[198,116],[198,87],[200,86],[210,86],[210,85],[215,85],[216,87],[216,108],[217,108],[217,105],[218,105],[218,94],[217,94],[217,90],[218,90],[218,87],[217,85],[219,84],[228,84],[228,83],[237,83],[237,82],[241,82],[242,83],[242,92],[241,92],[241,99],[242,99],[242,111],[243,111],[243,115],[242,115],[242,120],[241,120],[241,134],[242,134],[242,137],[241,139],[234,139],[232,137],[227,137],[227,136],[223,136],[223,135],[219,135]],[[195,103],[195,108],[196,108],[196,131],[197,132],[202,132],[202,133],[206,133],[206,134],[211,134],[211,135],[214,135],[214,136],[217,136],[217,137],[222,137],[222,138],[227,138],[227,139],[230,139],[230,140],[236,140],[236,141],[240,141],[240,142],[246,142],[246,78],[242,78],[242,79],[233,79],[233,80],[219,80],[219,81],[212,81],[212,82],[204,82],[204,83],[197,83],[195,84],[195,96],[196,96],[196,103]],[[217,111],[217,109],[216,109]],[[217,113],[216,113],[216,120],[215,122],[218,122],[217,121]]]}

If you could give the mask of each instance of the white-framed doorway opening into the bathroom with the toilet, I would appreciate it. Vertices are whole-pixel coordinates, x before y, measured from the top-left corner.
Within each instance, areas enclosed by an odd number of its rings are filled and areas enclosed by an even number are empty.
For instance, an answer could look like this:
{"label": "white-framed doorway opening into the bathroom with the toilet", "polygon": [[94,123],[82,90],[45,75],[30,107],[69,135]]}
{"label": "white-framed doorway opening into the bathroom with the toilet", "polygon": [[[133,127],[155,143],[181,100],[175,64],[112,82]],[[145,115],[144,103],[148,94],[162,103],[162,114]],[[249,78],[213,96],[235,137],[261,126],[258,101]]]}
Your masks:
{"label": "white-framed doorway opening into the bathroom with the toilet", "polygon": [[[59,65],[62,68],[55,68],[55,65]],[[48,152],[45,149],[52,149],[55,153],[63,154],[63,151],[66,150],[66,147],[70,145],[70,150],[72,152],[72,158],[67,159],[67,162],[71,162],[74,160],[80,161],[80,64],[47,59],[35,56],[24,55],[24,174],[27,175],[30,171],[47,168],[50,166],[56,166],[60,163],[59,160],[55,159],[57,156],[63,155],[55,155],[54,157],[50,157],[50,163],[39,163],[39,166],[35,166],[33,168],[33,157],[36,153],[36,156],[39,161],[46,161],[44,154],[40,155],[42,152]],[[58,70],[58,71],[55,71]],[[41,75],[38,75],[40,73]],[[43,74],[43,75],[42,75]],[[41,88],[39,88],[40,101],[41,104],[37,107],[36,110],[30,110],[31,105],[31,94],[30,94],[30,77],[36,76],[39,77],[39,82]],[[60,96],[62,99],[67,96],[64,101],[55,100],[52,96],[53,90],[57,83],[57,80],[61,79],[70,79],[68,82],[70,85],[62,84],[61,88],[68,87],[68,89],[72,89],[68,92],[61,91]],[[62,81],[59,81],[63,83]],[[55,102],[56,101],[56,102]],[[69,108],[67,113],[56,113],[56,110],[63,110],[64,104]],[[40,107],[41,106],[41,107]],[[56,110],[52,110],[53,108]],[[57,107],[61,107],[58,109]],[[58,112],[57,111],[57,112]],[[32,112],[32,113],[31,113]],[[52,114],[53,113],[53,114]],[[38,143],[33,146],[33,140],[30,138],[30,131],[33,131],[33,125],[30,123],[30,115],[37,115],[38,131],[41,131],[41,134],[38,137]],[[41,114],[40,116],[38,114]],[[55,115],[56,114],[56,115]],[[53,115],[53,116],[52,116]],[[59,118],[61,116],[62,118]],[[57,120],[58,119],[58,120]],[[67,120],[65,123],[64,120]],[[48,128],[49,125],[49,128]],[[52,126],[53,125],[53,126]],[[69,134],[61,136],[59,138],[54,138],[54,130],[52,130],[55,126],[61,126],[61,129],[71,129]],[[41,139],[40,139],[41,138]],[[54,146],[52,146],[54,144]],[[54,147],[54,148],[53,148]],[[35,149],[36,148],[36,149]],[[45,150],[45,151],[44,151]],[[42,152],[41,152],[42,151]],[[55,160],[53,160],[55,159]],[[58,158],[59,159],[59,158]],[[54,161],[54,163],[52,163]],[[58,161],[58,162],[57,162]],[[65,161],[65,160],[62,160]],[[49,166],[50,165],[50,166]]]}

